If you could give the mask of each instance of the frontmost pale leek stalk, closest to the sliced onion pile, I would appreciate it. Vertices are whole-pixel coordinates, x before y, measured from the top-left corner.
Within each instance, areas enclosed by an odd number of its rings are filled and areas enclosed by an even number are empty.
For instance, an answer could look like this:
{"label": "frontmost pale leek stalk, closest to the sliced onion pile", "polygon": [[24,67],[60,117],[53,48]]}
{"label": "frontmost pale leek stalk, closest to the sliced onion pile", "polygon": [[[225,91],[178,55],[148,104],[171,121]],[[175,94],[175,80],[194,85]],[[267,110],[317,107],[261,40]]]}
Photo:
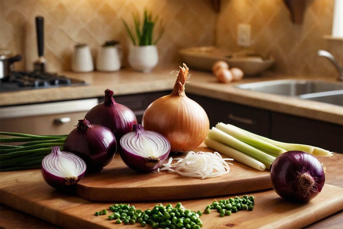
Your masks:
{"label": "frontmost pale leek stalk, closest to the sliced onion pile", "polygon": [[234,148],[229,147],[219,141],[206,137],[204,140],[204,143],[206,144],[207,147],[214,149],[218,152],[221,152],[227,157],[234,159],[235,161],[239,161],[240,163],[246,164],[250,166],[251,168],[254,168],[257,170],[261,170],[261,171],[265,170],[265,165],[262,162],[248,156],[245,153],[235,150]]}

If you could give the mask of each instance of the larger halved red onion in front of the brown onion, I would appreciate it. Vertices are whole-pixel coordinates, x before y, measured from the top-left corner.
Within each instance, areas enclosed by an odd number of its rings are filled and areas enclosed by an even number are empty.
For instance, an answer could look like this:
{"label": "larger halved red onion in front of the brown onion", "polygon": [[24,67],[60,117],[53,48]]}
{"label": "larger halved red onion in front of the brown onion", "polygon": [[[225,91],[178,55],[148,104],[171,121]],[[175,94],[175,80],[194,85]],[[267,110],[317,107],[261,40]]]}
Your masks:
{"label": "larger halved red onion in front of the brown onion", "polygon": [[120,139],[120,156],[125,164],[137,171],[152,171],[161,167],[170,152],[170,143],[155,131],[146,131],[140,124]]}

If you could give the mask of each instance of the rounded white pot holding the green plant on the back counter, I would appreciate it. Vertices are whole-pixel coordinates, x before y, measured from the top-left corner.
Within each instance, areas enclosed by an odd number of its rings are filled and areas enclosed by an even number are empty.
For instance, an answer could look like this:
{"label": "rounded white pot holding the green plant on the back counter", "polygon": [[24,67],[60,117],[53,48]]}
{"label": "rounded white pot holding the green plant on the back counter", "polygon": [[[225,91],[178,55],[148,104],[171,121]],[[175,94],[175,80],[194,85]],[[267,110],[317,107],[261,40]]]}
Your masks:
{"label": "rounded white pot holding the green plant on the back counter", "polygon": [[157,47],[156,45],[132,46],[128,60],[134,70],[151,72],[158,63]]}

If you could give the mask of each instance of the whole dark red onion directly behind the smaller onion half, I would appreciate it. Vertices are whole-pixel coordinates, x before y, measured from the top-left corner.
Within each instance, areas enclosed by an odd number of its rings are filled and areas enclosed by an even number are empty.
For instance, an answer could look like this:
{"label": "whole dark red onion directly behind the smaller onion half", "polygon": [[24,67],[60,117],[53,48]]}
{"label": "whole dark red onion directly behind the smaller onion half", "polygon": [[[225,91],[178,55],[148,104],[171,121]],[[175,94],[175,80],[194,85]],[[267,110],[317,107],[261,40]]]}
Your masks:
{"label": "whole dark red onion directly behind the smaller onion half", "polygon": [[86,162],[87,172],[97,172],[112,161],[117,141],[110,129],[91,124],[84,118],[67,136],[63,150],[81,157]]}

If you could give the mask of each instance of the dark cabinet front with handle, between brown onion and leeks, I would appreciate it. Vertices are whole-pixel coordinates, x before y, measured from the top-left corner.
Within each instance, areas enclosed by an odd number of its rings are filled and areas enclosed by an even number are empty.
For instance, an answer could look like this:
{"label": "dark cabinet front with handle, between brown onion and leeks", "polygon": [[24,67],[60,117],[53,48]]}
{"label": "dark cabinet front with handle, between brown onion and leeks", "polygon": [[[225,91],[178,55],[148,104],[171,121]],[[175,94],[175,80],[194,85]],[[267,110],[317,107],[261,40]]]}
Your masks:
{"label": "dark cabinet front with handle, between brown onion and leeks", "polygon": [[187,94],[187,96],[204,108],[210,120],[210,127],[222,122],[258,135],[270,136],[269,111],[194,94]]}

